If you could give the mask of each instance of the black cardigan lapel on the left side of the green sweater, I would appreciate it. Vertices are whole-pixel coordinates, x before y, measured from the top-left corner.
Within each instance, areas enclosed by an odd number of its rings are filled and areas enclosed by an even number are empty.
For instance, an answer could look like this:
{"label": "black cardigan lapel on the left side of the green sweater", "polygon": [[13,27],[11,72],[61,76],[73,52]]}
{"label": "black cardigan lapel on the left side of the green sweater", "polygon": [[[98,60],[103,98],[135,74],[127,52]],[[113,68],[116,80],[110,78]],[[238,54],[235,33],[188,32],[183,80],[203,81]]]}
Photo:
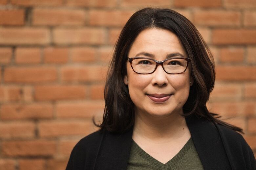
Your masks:
{"label": "black cardigan lapel on the left side of the green sweater", "polygon": [[132,134],[133,127],[122,134],[106,132],[99,148],[94,170],[126,170]]}

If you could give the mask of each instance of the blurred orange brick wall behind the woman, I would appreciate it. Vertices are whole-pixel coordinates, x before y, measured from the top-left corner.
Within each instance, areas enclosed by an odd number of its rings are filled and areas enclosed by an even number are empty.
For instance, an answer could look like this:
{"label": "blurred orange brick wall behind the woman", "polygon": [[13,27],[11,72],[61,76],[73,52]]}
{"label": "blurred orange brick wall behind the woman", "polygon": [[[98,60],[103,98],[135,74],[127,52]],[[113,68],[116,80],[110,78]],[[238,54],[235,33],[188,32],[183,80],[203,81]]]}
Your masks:
{"label": "blurred orange brick wall behind the woman", "polygon": [[210,110],[245,130],[256,153],[256,1],[0,0],[0,169],[64,169],[104,108],[108,62],[141,7],[175,9],[210,46]]}

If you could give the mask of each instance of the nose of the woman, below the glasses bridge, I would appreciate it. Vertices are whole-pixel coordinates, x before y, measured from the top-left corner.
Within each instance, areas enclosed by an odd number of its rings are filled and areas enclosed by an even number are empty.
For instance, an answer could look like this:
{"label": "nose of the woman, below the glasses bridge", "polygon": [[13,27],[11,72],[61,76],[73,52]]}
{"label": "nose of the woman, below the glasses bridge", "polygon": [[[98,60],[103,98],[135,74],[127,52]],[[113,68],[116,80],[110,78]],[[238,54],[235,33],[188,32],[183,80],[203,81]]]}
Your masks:
{"label": "nose of the woman, below the glasses bridge", "polygon": [[168,83],[168,80],[167,80],[167,73],[163,70],[162,66],[159,65],[155,72],[152,73],[152,84],[153,86],[166,86],[167,83]]}

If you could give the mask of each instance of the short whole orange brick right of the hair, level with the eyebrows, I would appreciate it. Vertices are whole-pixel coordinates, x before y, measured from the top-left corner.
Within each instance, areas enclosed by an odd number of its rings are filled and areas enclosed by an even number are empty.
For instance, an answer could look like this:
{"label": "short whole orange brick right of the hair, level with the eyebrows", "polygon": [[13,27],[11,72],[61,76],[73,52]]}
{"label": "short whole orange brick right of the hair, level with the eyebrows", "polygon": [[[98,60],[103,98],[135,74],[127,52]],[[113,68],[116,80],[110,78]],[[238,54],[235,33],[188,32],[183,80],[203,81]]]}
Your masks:
{"label": "short whole orange brick right of the hair, level with the eyebrows", "polygon": [[221,48],[219,61],[243,63],[244,54],[245,54],[244,48],[239,48],[239,47]]}

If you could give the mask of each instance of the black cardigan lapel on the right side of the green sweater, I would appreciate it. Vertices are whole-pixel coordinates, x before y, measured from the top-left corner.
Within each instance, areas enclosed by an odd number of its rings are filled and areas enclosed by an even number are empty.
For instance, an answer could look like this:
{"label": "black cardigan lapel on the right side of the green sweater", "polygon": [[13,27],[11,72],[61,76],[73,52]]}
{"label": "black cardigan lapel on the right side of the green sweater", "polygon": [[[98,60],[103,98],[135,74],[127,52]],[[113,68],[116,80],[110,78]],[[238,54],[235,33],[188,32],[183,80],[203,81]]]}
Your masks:
{"label": "black cardigan lapel on the right side of the green sweater", "polygon": [[205,170],[231,169],[215,125],[196,116],[186,117],[186,122],[203,168]]}

